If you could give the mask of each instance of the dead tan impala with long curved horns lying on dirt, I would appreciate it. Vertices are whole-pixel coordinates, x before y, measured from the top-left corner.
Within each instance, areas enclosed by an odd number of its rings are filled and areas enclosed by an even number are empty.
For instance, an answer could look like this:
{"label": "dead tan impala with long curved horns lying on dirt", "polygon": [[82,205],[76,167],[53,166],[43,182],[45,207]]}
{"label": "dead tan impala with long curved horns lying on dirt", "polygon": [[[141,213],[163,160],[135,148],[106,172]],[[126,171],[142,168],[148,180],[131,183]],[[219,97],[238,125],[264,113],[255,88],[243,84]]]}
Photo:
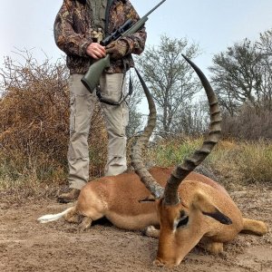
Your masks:
{"label": "dead tan impala with long curved horns lying on dirt", "polygon": [[[159,237],[154,263],[168,267],[178,266],[200,240],[211,253],[219,253],[223,251],[223,243],[241,231],[256,235],[267,233],[264,222],[242,217],[223,187],[193,171],[219,141],[221,118],[216,95],[205,75],[185,59],[198,73],[209,100],[210,129],[201,148],[175,169],[154,167],[146,170],[141,151],[154,129],[156,110],[151,93],[139,74],[150,115],[147,127],[131,152],[136,173],[92,180],[83,187],[72,208],[56,215],[45,215],[38,219],[40,222],[64,217],[68,222],[90,228],[93,220],[105,217],[118,228],[146,228],[147,235]],[[150,194],[152,198],[147,198]],[[158,226],[160,230],[150,226]]]}

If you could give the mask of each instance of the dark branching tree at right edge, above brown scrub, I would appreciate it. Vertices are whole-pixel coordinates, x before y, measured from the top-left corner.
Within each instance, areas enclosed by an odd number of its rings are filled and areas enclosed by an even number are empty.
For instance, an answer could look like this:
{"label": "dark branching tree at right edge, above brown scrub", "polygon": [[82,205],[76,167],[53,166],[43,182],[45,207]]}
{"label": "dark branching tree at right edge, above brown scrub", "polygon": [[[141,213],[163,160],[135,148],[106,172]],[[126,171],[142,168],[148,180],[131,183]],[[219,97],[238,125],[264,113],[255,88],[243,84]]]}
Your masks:
{"label": "dark branching tree at right edge, above brown scrub", "polygon": [[219,94],[220,103],[231,116],[239,112],[244,103],[249,103],[257,111],[264,102],[271,104],[271,67],[267,53],[264,53],[268,47],[264,47],[262,42],[252,43],[245,39],[213,57],[214,64],[209,67],[213,73],[211,82]]}

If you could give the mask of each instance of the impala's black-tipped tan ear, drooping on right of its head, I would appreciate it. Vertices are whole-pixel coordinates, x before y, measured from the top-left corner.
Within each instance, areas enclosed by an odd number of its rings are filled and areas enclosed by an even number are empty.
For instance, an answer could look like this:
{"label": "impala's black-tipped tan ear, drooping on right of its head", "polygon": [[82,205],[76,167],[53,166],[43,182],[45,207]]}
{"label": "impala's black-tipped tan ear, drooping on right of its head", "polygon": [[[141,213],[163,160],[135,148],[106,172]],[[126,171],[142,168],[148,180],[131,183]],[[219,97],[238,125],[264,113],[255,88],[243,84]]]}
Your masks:
{"label": "impala's black-tipped tan ear, drooping on right of its head", "polygon": [[216,219],[221,224],[231,225],[232,221],[226,215],[224,215],[217,207],[215,207],[209,197],[205,195],[202,191],[198,191],[192,202],[192,206],[195,209],[199,209],[204,215],[209,216],[210,218]]}

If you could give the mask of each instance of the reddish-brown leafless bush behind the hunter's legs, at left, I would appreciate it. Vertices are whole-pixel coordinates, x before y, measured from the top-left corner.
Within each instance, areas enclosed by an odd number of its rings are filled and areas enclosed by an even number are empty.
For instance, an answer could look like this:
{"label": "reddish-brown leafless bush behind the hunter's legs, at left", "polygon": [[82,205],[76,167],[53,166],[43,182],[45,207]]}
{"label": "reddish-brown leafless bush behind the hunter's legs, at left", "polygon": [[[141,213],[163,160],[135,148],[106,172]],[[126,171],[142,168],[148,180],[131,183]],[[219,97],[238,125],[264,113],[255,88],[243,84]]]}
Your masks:
{"label": "reddish-brown leafless bush behind the hunter's legs, at left", "polygon": [[[63,182],[69,140],[68,71],[63,62],[5,59],[0,100],[0,179]],[[99,141],[98,141],[99,139]],[[103,172],[107,135],[97,108],[90,133],[91,175]]]}

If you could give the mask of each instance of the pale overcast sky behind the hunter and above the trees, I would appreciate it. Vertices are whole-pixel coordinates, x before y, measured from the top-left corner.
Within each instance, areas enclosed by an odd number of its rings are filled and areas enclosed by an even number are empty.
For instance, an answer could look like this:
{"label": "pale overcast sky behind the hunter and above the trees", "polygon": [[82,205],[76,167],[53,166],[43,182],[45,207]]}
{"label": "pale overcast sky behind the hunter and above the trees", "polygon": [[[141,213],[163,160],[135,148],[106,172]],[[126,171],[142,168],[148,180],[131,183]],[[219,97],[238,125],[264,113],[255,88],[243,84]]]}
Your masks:
{"label": "pale overcast sky behind the hunter and above the trees", "polygon": [[[140,16],[160,0],[131,0]],[[39,61],[53,62],[64,53],[54,44],[53,22],[63,0],[0,0],[0,67],[5,56],[18,58],[28,50]],[[186,37],[198,43],[201,55],[195,63],[208,73],[215,53],[245,38],[257,40],[272,29],[272,0],[166,0],[146,23],[147,45],[158,45],[160,35]],[[209,74],[208,74],[209,75]]]}

